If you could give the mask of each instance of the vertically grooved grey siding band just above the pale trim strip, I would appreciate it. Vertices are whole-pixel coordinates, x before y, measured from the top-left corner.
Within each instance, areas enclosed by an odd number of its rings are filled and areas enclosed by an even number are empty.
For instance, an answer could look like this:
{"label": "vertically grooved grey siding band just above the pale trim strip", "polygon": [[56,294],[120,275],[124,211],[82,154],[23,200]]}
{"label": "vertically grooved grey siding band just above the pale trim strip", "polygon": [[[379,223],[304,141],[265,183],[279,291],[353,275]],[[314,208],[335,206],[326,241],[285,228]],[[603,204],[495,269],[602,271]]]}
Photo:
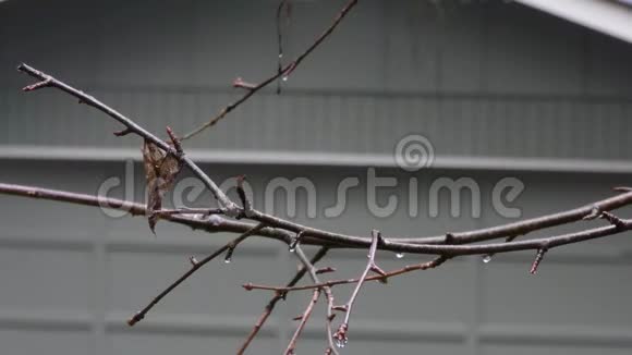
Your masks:
{"label": "vertically grooved grey siding band just above the pale trim strip", "polygon": [[[89,88],[89,86],[88,86]],[[154,132],[189,132],[238,97],[195,88],[94,89],[102,101]],[[120,127],[59,93],[2,95],[11,118],[2,145],[134,147]],[[262,94],[187,142],[193,149],[391,155],[422,134],[437,156],[558,159],[632,158],[632,100],[613,97]],[[0,145],[0,147],[2,146]]]}

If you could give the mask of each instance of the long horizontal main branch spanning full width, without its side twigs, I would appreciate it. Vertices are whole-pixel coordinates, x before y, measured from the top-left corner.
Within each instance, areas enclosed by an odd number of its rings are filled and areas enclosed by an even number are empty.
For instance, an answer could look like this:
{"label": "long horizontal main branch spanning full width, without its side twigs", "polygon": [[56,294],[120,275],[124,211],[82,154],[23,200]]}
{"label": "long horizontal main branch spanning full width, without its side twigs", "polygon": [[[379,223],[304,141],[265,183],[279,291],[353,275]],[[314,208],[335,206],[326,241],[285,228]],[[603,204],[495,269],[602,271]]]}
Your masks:
{"label": "long horizontal main branch spanning full width, without its side twigs", "polygon": [[[25,185],[14,185],[14,184],[3,184],[0,183],[0,193],[9,195],[19,195],[25,197],[50,199],[58,201],[66,201],[78,205],[87,205],[95,207],[107,207],[112,209],[119,209],[130,212],[131,215],[138,216],[145,213],[145,206],[135,204],[133,201],[125,201],[116,198],[107,198],[101,196],[92,196],[85,194],[75,194],[57,189],[40,188],[34,186]],[[604,206],[606,209],[615,209],[632,203],[632,192],[621,194],[615,197],[610,197],[598,201],[593,205]],[[581,211],[582,208],[572,210]],[[255,210],[255,212],[258,212]],[[260,212],[258,212],[260,213]],[[569,212],[554,213],[549,216],[566,215]],[[223,220],[221,224],[214,224],[208,221],[203,221],[198,219],[184,218],[180,216],[166,216],[167,220],[175,223],[185,224],[195,229],[203,229],[209,232],[233,232],[233,233],[244,233],[254,227],[252,223]],[[581,218],[580,218],[581,219]],[[282,219],[262,219],[268,228],[262,229],[256,235],[270,237],[284,243],[290,243],[294,236],[293,231],[297,229],[296,223],[288,222]],[[269,221],[269,222],[268,222]],[[571,220],[572,221],[572,220]],[[262,221],[259,221],[262,222]],[[288,223],[288,224],[285,224]],[[537,224],[540,223],[540,224]],[[557,220],[556,223],[566,224]],[[537,225],[534,225],[537,224]],[[467,244],[474,243],[479,240],[487,240],[494,237],[506,237],[507,235],[512,235],[514,231],[518,230],[542,230],[550,227],[550,219],[548,216],[540,217],[537,219],[524,220],[522,222],[514,222],[505,225],[494,227],[486,230],[477,230],[473,232],[463,232],[465,235],[463,240],[459,243]],[[558,225],[558,224],[555,224]],[[358,248],[370,246],[370,240],[361,236],[345,235],[335,232],[328,232],[312,228],[305,228],[304,236],[301,238],[302,244],[305,245],[319,245],[328,246],[331,248]],[[584,242],[587,240],[604,237],[608,235],[619,234],[621,232],[632,229],[632,222],[630,220],[622,220],[620,227],[617,225],[606,225],[590,230],[584,230],[580,232],[562,234],[557,236],[551,236],[547,238],[534,238],[520,242],[510,243],[491,243],[491,244],[477,244],[477,245],[442,245],[442,244],[416,244],[416,243],[403,243],[403,242],[392,242],[392,241],[408,241],[406,238],[382,238],[382,243],[379,246],[380,250],[390,252],[401,252],[411,254],[428,254],[428,255],[446,255],[446,256],[459,256],[459,255],[486,255],[491,253],[508,253],[518,250],[537,250],[543,245],[549,244],[550,247]],[[289,231],[288,231],[289,230]],[[506,234],[507,233],[507,234]],[[453,233],[454,235],[457,233]],[[470,237],[471,235],[477,235],[478,237]],[[483,236],[486,236],[483,238]],[[435,238],[435,237],[430,237]],[[455,237],[454,237],[455,238]],[[413,242],[421,241],[424,238],[412,238]],[[445,237],[442,237],[445,241]]]}

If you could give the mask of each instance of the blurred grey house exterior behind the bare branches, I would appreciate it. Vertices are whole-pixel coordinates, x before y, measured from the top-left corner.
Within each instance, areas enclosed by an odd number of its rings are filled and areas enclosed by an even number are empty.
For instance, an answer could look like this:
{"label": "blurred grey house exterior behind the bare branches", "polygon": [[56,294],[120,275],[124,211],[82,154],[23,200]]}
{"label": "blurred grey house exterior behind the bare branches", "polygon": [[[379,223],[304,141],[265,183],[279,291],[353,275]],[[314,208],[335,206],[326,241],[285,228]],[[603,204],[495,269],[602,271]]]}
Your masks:
{"label": "blurred grey house exterior behind the bare branches", "polygon": [[[270,85],[185,149],[218,182],[247,174],[262,208],[275,179],[308,180],[316,218],[309,194],[300,191],[294,219],[355,235],[376,228],[423,236],[514,221],[494,199],[506,178],[524,187],[513,198],[501,194],[521,218],[582,206],[630,184],[627,2],[360,1],[282,82],[280,95]],[[291,1],[281,21],[283,59],[309,46],[344,3]],[[109,196],[142,201],[141,140],[114,137],[117,123],[64,94],[21,93],[33,79],[15,66],[44,70],[160,135],[167,124],[183,134],[242,94],[231,88],[234,78],[257,83],[276,71],[277,5],[0,2],[0,182],[87,194],[107,185]],[[398,167],[393,154],[410,135],[427,139],[432,164]],[[369,207],[368,168],[397,182],[377,194],[379,206],[398,198],[388,216]],[[341,213],[326,217],[349,178],[358,186]],[[438,195],[437,211],[428,204],[443,178],[478,187],[479,194],[457,191],[463,207],[457,216],[449,188]],[[170,204],[212,204],[193,185],[179,185],[182,198],[170,195]],[[272,196],[280,216],[291,207],[285,197]],[[0,196],[0,353],[234,353],[270,296],[241,284],[283,284],[296,269],[278,242],[248,240],[233,262],[211,262],[143,322],[125,325],[189,269],[190,255],[210,253],[230,236],[162,222],[154,236],[143,218]],[[341,354],[630,354],[630,237],[550,252],[537,276],[528,274],[533,254],[515,253],[490,262],[459,258],[388,285],[367,284]],[[379,255],[384,269],[421,260]],[[329,277],[338,279],[360,274],[365,262],[365,252],[348,250],[332,252],[323,265],[337,267]],[[342,303],[350,289],[335,292]],[[250,353],[280,353],[308,297],[296,293],[279,304]],[[297,353],[323,353],[323,314],[319,304]]]}

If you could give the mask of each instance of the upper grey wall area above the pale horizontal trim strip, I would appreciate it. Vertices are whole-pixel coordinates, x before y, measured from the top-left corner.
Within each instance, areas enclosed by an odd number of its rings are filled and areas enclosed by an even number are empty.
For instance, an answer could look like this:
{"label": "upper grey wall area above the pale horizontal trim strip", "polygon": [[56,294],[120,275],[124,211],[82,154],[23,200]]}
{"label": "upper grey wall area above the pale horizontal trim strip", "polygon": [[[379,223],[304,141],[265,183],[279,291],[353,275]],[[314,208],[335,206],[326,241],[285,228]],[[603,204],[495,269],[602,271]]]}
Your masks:
{"label": "upper grey wall area above the pale horizontal trim strip", "polygon": [[[343,1],[296,1],[287,56]],[[66,97],[21,95],[24,61],[98,94],[153,130],[187,132],[276,65],[276,1],[20,0],[0,11],[5,145],[137,146]],[[363,1],[282,96],[262,95],[191,148],[628,159],[632,47],[515,3]],[[51,117],[57,118],[50,120]],[[61,124],[60,124],[61,123]],[[27,128],[35,132],[24,134]],[[282,137],[282,139],[279,139]]]}

